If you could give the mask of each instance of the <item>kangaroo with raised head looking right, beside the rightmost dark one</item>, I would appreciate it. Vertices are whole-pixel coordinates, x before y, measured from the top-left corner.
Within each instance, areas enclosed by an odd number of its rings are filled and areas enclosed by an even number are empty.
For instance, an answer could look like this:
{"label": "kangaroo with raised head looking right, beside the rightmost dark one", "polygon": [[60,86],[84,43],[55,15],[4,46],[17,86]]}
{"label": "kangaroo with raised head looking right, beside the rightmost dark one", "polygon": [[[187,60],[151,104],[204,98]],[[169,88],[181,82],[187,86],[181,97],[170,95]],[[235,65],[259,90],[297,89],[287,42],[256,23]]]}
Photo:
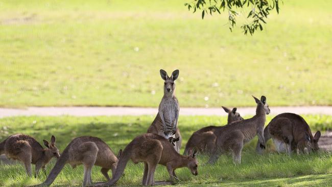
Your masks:
{"label": "kangaroo with raised head looking right, beside the rightmost dark one", "polygon": [[263,128],[266,114],[270,113],[266,97],[259,99],[253,97],[257,103],[256,114],[247,120],[233,122],[215,132],[217,135],[216,148],[210,156],[209,163],[217,161],[219,156],[226,151],[231,151],[235,163],[241,163],[241,152],[243,145],[258,135],[261,147],[265,147]]}

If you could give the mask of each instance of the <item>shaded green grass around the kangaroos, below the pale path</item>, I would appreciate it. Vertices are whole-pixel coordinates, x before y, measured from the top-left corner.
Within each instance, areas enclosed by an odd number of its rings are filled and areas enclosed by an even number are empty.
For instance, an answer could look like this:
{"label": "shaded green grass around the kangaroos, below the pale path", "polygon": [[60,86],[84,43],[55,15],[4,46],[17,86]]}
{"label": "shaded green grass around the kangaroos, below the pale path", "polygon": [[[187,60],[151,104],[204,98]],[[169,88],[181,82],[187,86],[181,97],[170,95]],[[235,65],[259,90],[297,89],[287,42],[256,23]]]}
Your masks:
{"label": "shaded green grass around the kangaroos, below the pale path", "polygon": [[[269,122],[273,116],[268,116]],[[313,131],[332,129],[331,116],[305,115],[305,120]],[[81,135],[93,135],[102,138],[114,152],[123,149],[135,136],[146,132],[154,116],[119,116],[119,117],[17,117],[0,119],[0,141],[9,134],[26,133],[39,142],[57,137],[57,147],[63,150],[71,139]],[[181,116],[179,127],[182,132],[182,147],[192,132],[208,125],[226,123],[225,117],[219,116]],[[183,186],[328,186],[332,182],[332,157],[328,153],[310,155],[276,154],[269,142],[265,154],[257,155],[254,147],[257,139],[248,143],[244,149],[242,163],[234,166],[229,155],[223,155],[216,165],[206,165],[207,157],[199,155],[199,175],[193,176],[188,169],[177,170]],[[183,148],[181,150],[183,152]],[[49,172],[55,160],[47,166]],[[99,167],[93,168],[93,181],[104,181]],[[139,185],[143,176],[143,165],[134,165],[131,161],[125,170],[125,176],[118,185]],[[20,186],[42,182],[46,176],[35,178],[26,176],[22,165],[0,166],[0,186]],[[66,166],[55,180],[57,186],[79,186],[83,178],[82,166],[72,169]],[[158,166],[156,180],[168,179],[165,167]]]}

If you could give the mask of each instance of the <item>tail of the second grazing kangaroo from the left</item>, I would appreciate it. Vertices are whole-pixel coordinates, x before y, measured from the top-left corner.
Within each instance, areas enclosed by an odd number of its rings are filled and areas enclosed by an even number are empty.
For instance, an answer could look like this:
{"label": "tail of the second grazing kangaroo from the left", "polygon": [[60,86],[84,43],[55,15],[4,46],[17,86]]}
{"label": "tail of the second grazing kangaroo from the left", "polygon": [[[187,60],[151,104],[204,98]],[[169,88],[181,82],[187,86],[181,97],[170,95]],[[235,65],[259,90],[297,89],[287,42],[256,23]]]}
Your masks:
{"label": "tail of the second grazing kangaroo from the left", "polygon": [[68,153],[69,148],[68,147],[69,146],[67,146],[66,149],[62,152],[61,156],[55,163],[55,166],[51,170],[48,178],[46,178],[46,180],[42,183],[42,185],[48,185],[48,186],[51,185],[53,183],[53,181],[55,180],[55,178],[57,178],[57,176],[61,172],[64,165],[66,165],[67,160],[69,158],[69,153]]}

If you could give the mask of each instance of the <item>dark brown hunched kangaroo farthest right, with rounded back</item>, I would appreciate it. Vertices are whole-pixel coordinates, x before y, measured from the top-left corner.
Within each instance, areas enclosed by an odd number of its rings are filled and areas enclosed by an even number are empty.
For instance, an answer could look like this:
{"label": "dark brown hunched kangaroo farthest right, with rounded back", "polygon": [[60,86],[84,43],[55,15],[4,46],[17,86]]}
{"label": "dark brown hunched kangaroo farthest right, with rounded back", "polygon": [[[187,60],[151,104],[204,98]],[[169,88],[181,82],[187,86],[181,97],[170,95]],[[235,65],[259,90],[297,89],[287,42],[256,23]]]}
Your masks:
{"label": "dark brown hunched kangaroo farthest right, with rounded back", "polygon": [[264,129],[264,133],[265,141],[272,138],[279,153],[286,152],[290,155],[294,150],[299,154],[304,153],[304,148],[309,152],[319,149],[320,131],[313,136],[309,125],[295,113],[281,113],[275,116]]}

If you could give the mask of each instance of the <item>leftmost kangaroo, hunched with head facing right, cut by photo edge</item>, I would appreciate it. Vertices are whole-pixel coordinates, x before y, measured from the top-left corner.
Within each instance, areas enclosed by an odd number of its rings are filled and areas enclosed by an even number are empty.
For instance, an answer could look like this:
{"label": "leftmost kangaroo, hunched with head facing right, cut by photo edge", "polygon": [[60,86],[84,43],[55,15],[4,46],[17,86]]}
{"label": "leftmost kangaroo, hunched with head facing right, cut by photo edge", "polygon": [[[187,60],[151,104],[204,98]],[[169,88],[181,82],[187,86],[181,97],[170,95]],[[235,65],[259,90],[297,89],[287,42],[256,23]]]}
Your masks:
{"label": "leftmost kangaroo, hunched with head facing right, cut by photo edge", "polygon": [[55,146],[55,136],[51,136],[51,143],[43,139],[43,148],[35,138],[25,134],[13,134],[0,143],[0,155],[6,154],[8,158],[14,160],[18,159],[23,162],[27,174],[31,177],[31,163],[36,165],[35,178],[39,173],[40,168],[44,171],[45,165],[50,162],[53,157],[59,158],[59,150]]}

